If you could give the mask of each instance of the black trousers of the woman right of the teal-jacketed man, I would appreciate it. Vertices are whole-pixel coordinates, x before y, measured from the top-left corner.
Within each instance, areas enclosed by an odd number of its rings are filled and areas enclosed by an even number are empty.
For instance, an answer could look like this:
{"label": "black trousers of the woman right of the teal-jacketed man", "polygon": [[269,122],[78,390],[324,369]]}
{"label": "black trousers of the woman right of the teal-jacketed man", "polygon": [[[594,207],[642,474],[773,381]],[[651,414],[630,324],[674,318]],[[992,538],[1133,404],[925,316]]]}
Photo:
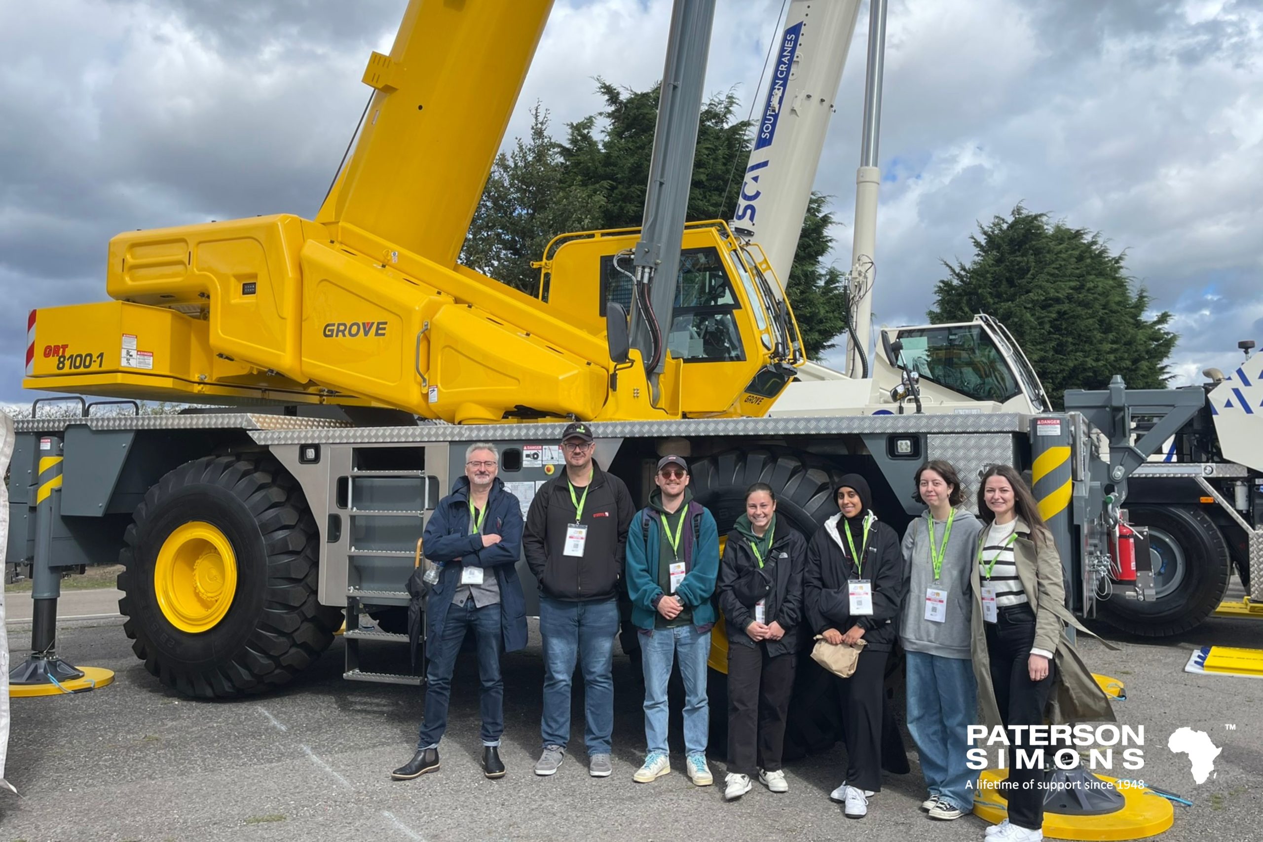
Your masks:
{"label": "black trousers of the woman right of the teal-jacketed man", "polygon": [[767,645],[727,645],[727,770],[751,778],[781,769],[786,712],[798,658]]}

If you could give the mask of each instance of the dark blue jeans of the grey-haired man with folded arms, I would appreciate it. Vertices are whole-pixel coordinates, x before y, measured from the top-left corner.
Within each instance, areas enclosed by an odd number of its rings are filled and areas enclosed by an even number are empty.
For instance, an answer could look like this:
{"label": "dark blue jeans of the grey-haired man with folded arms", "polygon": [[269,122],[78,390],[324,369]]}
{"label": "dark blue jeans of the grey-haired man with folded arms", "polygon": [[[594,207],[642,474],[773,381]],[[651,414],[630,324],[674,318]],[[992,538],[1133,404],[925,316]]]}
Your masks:
{"label": "dark blue jeans of the grey-haired man with folded arms", "polygon": [[477,673],[482,682],[480,707],[482,711],[482,745],[500,745],[504,733],[504,679],[500,677],[500,653],[504,637],[500,630],[500,606],[481,608],[474,598],[465,605],[447,606],[447,620],[438,640],[426,643],[429,665],[426,668],[426,715],[417,737],[417,750],[437,749],[447,730],[447,703],[452,697],[452,670],[461,643],[470,627],[477,637]]}

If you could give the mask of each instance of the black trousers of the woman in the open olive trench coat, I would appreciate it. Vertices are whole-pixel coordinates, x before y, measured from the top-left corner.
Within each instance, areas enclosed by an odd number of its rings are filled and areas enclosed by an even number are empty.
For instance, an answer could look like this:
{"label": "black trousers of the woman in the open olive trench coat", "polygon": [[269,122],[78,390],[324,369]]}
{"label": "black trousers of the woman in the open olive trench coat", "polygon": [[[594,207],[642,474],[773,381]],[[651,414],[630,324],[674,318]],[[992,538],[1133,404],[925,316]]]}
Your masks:
{"label": "black trousers of the woman in the open olive trench coat", "polygon": [[[1043,709],[1056,680],[1056,664],[1048,661],[1048,674],[1041,682],[1031,680],[1031,646],[1034,645],[1034,611],[1028,605],[1000,608],[998,622],[986,625],[986,654],[991,661],[991,687],[1000,708],[1004,727],[1043,725]],[[1009,731],[1009,778],[1002,792],[1009,802],[1009,823],[1036,831],[1043,827],[1041,785],[1043,769],[1019,769],[1017,751],[1024,747],[1024,736]],[[1045,752],[1052,749],[1045,746]]]}

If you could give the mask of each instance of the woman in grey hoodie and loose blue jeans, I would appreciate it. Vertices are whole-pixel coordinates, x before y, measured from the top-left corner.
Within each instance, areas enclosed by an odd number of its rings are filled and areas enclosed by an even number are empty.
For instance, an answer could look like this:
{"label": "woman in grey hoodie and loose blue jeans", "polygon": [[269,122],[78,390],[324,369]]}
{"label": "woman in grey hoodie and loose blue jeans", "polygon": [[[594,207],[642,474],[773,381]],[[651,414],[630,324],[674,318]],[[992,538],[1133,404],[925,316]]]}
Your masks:
{"label": "woman in grey hoodie and loose blue jeans", "polygon": [[949,462],[917,470],[913,499],[927,509],[903,537],[904,592],[899,643],[907,653],[908,731],[917,744],[932,819],[974,809],[978,773],[966,766],[967,726],[978,687],[970,656],[970,572],[981,521],[960,507],[960,477]]}

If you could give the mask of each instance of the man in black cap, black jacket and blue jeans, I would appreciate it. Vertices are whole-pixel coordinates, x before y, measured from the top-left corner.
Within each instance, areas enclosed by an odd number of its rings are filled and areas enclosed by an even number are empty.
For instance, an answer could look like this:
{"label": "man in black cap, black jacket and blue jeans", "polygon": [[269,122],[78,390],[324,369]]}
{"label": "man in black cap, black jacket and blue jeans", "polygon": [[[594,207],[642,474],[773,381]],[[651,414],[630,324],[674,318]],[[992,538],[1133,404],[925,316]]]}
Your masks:
{"label": "man in black cap, black jacket and blue jeans", "polygon": [[587,771],[608,778],[614,731],[614,635],[623,548],[635,507],[623,480],[592,461],[596,444],[582,422],[561,437],[566,470],[536,494],[523,547],[539,581],[539,634],[544,648],[543,751],[537,775],[552,775],[570,742],[570,688],[584,670],[584,741]]}

